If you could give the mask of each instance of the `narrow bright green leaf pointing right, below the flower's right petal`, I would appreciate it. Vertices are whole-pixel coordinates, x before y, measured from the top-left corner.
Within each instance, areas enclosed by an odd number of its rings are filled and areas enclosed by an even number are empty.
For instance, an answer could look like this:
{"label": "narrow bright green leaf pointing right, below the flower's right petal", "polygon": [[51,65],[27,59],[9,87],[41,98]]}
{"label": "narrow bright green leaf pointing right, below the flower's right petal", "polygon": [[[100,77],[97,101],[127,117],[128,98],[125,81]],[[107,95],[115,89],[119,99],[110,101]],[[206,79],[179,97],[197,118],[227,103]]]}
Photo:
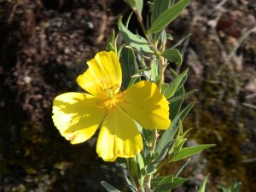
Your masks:
{"label": "narrow bright green leaf pointing right, below the flower's right petal", "polygon": [[195,147],[182,148],[178,152],[178,154],[176,156],[174,156],[172,158],[172,160],[170,160],[170,162],[174,162],[177,160],[183,160],[184,158],[187,158],[193,154],[197,154],[206,148],[212,148],[213,146],[215,146],[215,144],[204,144],[204,145],[199,145],[199,146],[195,146]]}

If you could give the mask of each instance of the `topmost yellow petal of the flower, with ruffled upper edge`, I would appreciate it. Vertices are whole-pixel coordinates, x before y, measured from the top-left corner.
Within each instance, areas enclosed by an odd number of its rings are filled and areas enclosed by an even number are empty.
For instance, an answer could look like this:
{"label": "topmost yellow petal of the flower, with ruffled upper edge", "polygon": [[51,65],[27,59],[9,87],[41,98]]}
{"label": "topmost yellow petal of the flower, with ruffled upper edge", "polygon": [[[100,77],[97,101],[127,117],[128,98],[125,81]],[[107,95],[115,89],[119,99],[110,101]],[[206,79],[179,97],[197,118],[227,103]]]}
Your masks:
{"label": "topmost yellow petal of the flower, with ruffled upper edge", "polygon": [[95,58],[87,62],[88,70],[79,75],[77,83],[90,94],[97,96],[103,90],[118,87],[122,83],[122,72],[117,55],[113,52],[102,51]]}

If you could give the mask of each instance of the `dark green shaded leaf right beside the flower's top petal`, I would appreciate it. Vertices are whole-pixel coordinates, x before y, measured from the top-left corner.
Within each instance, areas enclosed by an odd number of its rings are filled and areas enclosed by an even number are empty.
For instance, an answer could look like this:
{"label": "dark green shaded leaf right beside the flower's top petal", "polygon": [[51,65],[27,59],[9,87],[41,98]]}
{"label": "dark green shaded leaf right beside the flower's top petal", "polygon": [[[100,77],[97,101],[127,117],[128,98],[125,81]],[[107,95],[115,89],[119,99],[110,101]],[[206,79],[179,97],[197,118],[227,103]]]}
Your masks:
{"label": "dark green shaded leaf right beside the flower's top petal", "polygon": [[[122,67],[122,74],[123,74],[123,84],[122,87],[124,90],[127,89],[128,85],[131,82],[131,76],[137,73],[137,61],[134,55],[134,51],[132,49],[124,48],[121,51],[120,56],[120,64]],[[138,80],[135,79],[133,83],[136,83]]]}

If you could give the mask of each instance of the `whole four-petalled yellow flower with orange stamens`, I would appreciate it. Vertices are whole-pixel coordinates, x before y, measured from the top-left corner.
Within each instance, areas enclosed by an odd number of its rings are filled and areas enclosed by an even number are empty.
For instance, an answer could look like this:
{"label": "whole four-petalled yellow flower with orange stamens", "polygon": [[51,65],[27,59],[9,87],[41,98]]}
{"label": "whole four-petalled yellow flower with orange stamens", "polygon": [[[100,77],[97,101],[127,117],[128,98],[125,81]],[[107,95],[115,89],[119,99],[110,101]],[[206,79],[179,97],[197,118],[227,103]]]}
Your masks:
{"label": "whole four-petalled yellow flower with orange stamens", "polygon": [[140,81],[121,92],[122,72],[117,55],[99,52],[77,83],[87,93],[56,96],[53,121],[71,143],[82,143],[100,128],[96,152],[103,160],[133,157],[143,148],[136,122],[145,129],[166,130],[168,102],[156,84]]}

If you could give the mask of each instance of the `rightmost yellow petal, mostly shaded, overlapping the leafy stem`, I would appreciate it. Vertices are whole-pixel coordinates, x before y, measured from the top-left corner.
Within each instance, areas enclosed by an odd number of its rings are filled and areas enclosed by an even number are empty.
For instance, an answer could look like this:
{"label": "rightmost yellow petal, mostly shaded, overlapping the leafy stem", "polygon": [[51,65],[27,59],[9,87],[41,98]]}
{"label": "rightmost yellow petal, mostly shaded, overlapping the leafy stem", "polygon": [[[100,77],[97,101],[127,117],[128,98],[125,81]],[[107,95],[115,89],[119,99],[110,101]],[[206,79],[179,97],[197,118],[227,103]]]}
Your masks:
{"label": "rightmost yellow petal, mostly shaded, overlapping the leafy stem", "polygon": [[156,84],[140,81],[123,93],[119,106],[145,129],[166,130],[171,124],[169,105]]}

